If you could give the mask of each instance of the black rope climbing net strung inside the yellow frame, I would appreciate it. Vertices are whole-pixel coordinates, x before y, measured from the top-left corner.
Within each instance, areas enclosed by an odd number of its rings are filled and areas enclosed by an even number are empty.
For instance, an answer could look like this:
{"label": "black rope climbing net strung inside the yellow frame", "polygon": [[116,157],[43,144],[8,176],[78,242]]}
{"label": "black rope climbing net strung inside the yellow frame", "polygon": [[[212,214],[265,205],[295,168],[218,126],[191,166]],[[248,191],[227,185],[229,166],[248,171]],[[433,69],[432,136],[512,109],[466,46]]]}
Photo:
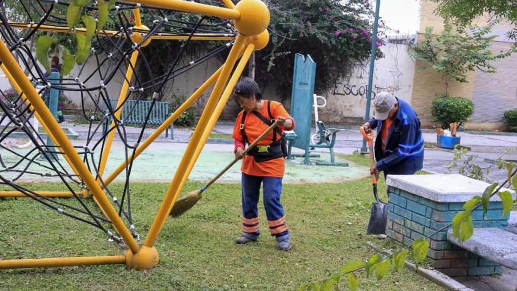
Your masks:
{"label": "black rope climbing net strung inside the yellow frame", "polygon": [[[98,0],[103,1],[103,0]],[[83,8],[83,13],[97,18],[98,3],[90,2]],[[74,146],[82,157],[86,167],[97,181],[103,185],[105,193],[111,197],[112,205],[118,215],[128,224],[134,238],[139,235],[135,232],[131,214],[131,188],[129,178],[131,176],[132,163],[126,162],[123,178],[125,179],[124,191],[121,198],[117,198],[110,190],[110,185],[104,182],[101,177],[99,165],[102,156],[109,154],[104,152],[105,144],[111,132],[115,133],[118,142],[123,144],[126,161],[133,161],[136,148],[141,143],[144,130],[149,123],[151,112],[155,106],[156,99],[152,98],[147,112],[143,112],[145,119],[136,140],[129,140],[125,122],[130,118],[131,112],[137,110],[138,102],[146,99],[144,92],[151,90],[155,94],[161,92],[166,83],[175,77],[185,74],[188,70],[203,64],[212,57],[221,54],[232,46],[233,38],[237,35],[229,20],[196,15],[186,17],[188,12],[181,12],[160,7],[140,5],[128,2],[116,2],[116,6],[109,13],[107,27],[94,37],[92,48],[89,51],[87,61],[80,66],[79,73],[74,78],[64,76],[60,78],[59,84],[51,83],[53,79],[45,76],[45,69],[40,67],[36,60],[34,40],[41,35],[57,33],[59,35],[69,33],[66,10],[70,3],[51,0],[23,0],[17,1],[16,21],[10,21],[9,13],[13,13],[13,7],[6,5],[6,0],[0,1],[0,37],[9,50],[16,55],[20,67],[26,71],[27,78],[37,86],[37,91],[46,100],[49,90],[62,90],[75,92],[81,99],[82,114],[89,120],[88,132],[85,137],[85,144]],[[149,31],[134,28],[134,9],[139,9],[142,24],[149,28]],[[22,11],[22,12],[20,12]],[[197,21],[189,21],[197,19]],[[145,21],[144,21],[145,20]],[[110,29],[110,27],[112,29]],[[55,35],[55,34],[54,34]],[[140,36],[139,42],[132,39]],[[220,41],[216,46],[195,60],[180,61],[185,50],[195,45],[192,39],[196,36],[203,36],[205,39],[225,37],[229,40]],[[165,64],[165,73],[153,77],[153,70],[150,67],[149,58],[153,55],[145,55],[143,44],[149,39],[152,41],[178,41],[171,38],[183,37],[183,45],[171,64]],[[162,40],[163,39],[163,40]],[[168,40],[169,39],[169,40]],[[138,60],[143,70],[137,70],[130,62],[131,55],[138,51]],[[89,69],[91,64],[95,69]],[[89,66],[87,66],[89,64]],[[77,65],[76,65],[77,66]],[[131,79],[126,78],[126,71],[131,69]],[[141,72],[139,74],[139,72]],[[145,76],[145,75],[148,76]],[[108,88],[115,80],[120,79],[129,84],[129,90],[121,106],[116,107],[110,99],[119,96],[110,96]],[[100,82],[98,80],[101,80]],[[147,80],[147,81],[144,81]],[[56,81],[56,80],[54,80]],[[38,132],[31,121],[35,118],[35,110],[26,96],[16,92],[0,92],[0,108],[4,114],[0,117],[0,185],[8,185],[13,191],[21,192],[27,197],[42,203],[43,205],[73,219],[80,220],[104,231],[111,239],[123,245],[124,241],[112,234],[107,225],[111,224],[102,213],[87,206],[83,201],[81,192],[76,192],[74,187],[87,190],[87,187],[73,170],[64,165],[65,154],[59,146],[47,142],[42,134]],[[115,98],[113,98],[115,97]],[[89,101],[88,101],[89,100]],[[129,105],[128,100],[135,100]],[[88,103],[93,103],[93,108],[88,108]],[[126,104],[128,104],[126,106]],[[124,119],[118,119],[115,112],[120,111],[124,106],[127,110]],[[102,114],[99,121],[96,115]],[[110,126],[113,122],[113,126]],[[103,128],[104,127],[104,128]],[[104,130],[103,130],[104,129]],[[19,149],[9,146],[8,139],[16,134],[24,133],[32,142],[29,149]],[[56,158],[57,157],[57,158]],[[39,194],[22,183],[27,177],[49,177],[63,182],[68,191],[73,195],[74,203],[67,202],[67,199],[55,199]]]}

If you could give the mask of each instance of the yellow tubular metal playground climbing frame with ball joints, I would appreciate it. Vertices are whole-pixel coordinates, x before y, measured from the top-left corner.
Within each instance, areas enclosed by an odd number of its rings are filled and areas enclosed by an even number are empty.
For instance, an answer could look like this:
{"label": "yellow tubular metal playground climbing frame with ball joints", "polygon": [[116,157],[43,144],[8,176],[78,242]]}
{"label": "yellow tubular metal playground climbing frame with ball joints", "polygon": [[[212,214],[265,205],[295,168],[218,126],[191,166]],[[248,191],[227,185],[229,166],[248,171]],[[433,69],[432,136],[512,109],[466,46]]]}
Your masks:
{"label": "yellow tubular metal playground climbing frame with ball joints", "polygon": [[[161,206],[156,214],[153,225],[149,229],[143,245],[139,245],[131,236],[130,231],[124,222],[120,219],[116,210],[112,206],[110,200],[103,192],[104,186],[95,179],[93,174],[88,170],[85,163],[77,150],[72,146],[72,143],[67,138],[63,130],[60,128],[52,113],[42,101],[41,97],[36,92],[33,84],[27,79],[22,68],[14,59],[9,51],[9,48],[2,41],[0,42],[0,60],[2,61],[2,70],[6,73],[11,83],[15,86],[18,92],[27,97],[26,103],[32,105],[36,111],[35,116],[49,133],[49,136],[54,143],[59,146],[59,151],[64,153],[64,157],[72,170],[77,174],[87,186],[87,190],[82,194],[92,194],[99,208],[111,221],[113,227],[118,234],[123,238],[129,250],[120,256],[99,256],[99,257],[67,257],[67,258],[38,258],[38,259],[17,259],[17,260],[0,260],[0,269],[13,268],[37,268],[37,267],[58,267],[58,266],[79,266],[79,265],[105,265],[105,264],[126,264],[130,268],[144,269],[158,264],[158,252],[154,248],[154,243],[160,234],[160,231],[168,218],[178,195],[183,188],[197,158],[199,157],[204,144],[206,143],[211,130],[214,128],[216,121],[219,118],[227,100],[232,94],[233,87],[238,81],[238,78],[244,70],[249,57],[253,50],[260,50],[264,48],[269,41],[269,34],[266,30],[269,24],[269,10],[266,5],[260,0],[241,0],[237,5],[234,5],[230,0],[224,0],[226,8],[209,6],[199,3],[183,0],[141,0],[140,4],[151,5],[155,7],[163,7],[166,9],[174,9],[185,12],[193,12],[205,14],[207,16],[214,16],[233,20],[233,25],[239,32],[235,38],[234,45],[227,57],[226,62],[219,68],[206,82],[197,89],[192,96],[190,96],[183,105],[181,105],[171,117],[163,123],[156,131],[147,138],[143,143],[138,145],[134,158],[138,157],[163,131],[168,128],[174,120],[176,120],[181,113],[183,113],[194,101],[199,98],[212,84],[215,83],[210,97],[207,101],[206,107],[201,115],[198,125],[193,133],[188,147],[181,159],[178,169],[172,179],[169,189],[161,203]],[[135,19],[134,28],[148,31],[148,28],[142,25],[139,8],[133,9]],[[16,24],[12,24],[17,27]],[[20,26],[20,28],[27,28],[27,26]],[[42,31],[63,32],[63,27],[53,27],[42,25],[38,28]],[[78,29],[75,33],[84,34],[85,31]],[[102,34],[101,34],[102,35]],[[104,35],[115,35],[115,32],[105,31]],[[145,34],[131,37],[135,43],[140,42],[145,37]],[[133,39],[134,38],[134,39]],[[152,36],[148,41],[142,43],[145,46],[149,41],[161,39],[185,39],[183,36]],[[203,34],[195,34],[193,40],[210,39],[215,40],[214,37],[207,38]],[[219,40],[233,39],[230,37],[216,38]],[[134,50],[130,63],[126,72],[126,80],[131,80],[133,75],[132,67],[138,60],[139,52]],[[239,61],[240,58],[240,61]],[[235,71],[234,67],[238,62]],[[226,85],[227,83],[227,85]],[[123,102],[123,97],[126,96],[130,84],[126,81],[120,92],[119,104]],[[32,109],[32,108],[31,108]],[[120,110],[115,111],[116,118],[120,116]],[[111,126],[114,125],[114,121]],[[104,146],[104,155],[100,162],[99,172],[104,172],[108,154],[110,152],[115,130],[111,130],[107,137]],[[131,162],[131,159],[127,161]],[[108,185],[111,183],[126,167],[126,162],[121,163],[120,166],[111,175],[104,179],[104,183]],[[89,193],[87,193],[89,192]],[[41,192],[39,195],[45,197],[69,197],[73,194],[70,192]],[[0,197],[26,197],[20,192],[0,192]]]}

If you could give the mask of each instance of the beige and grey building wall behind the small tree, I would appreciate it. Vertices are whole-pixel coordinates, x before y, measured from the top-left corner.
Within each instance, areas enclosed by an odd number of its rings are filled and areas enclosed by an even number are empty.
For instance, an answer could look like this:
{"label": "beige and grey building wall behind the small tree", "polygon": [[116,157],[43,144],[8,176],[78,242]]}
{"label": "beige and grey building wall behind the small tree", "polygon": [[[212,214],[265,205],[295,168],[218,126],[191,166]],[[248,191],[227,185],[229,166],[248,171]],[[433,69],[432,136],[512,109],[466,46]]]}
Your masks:
{"label": "beige and grey building wall behind the small tree", "polygon": [[[433,27],[433,33],[443,32],[443,19],[435,14],[437,4],[424,0],[421,3],[421,19],[418,34],[418,42],[424,40],[425,28]],[[474,23],[479,26],[486,25],[493,17],[486,14]],[[506,33],[513,25],[508,22],[500,22],[494,26],[493,34],[499,35],[492,41],[491,50],[494,54],[506,51],[512,46],[506,38]],[[468,83],[459,83],[455,80],[449,82],[449,94],[472,100],[474,114],[465,125],[467,129],[504,129],[504,111],[517,108],[516,89],[517,77],[514,68],[517,65],[517,55],[511,55],[503,60],[492,62],[497,68],[495,74],[483,73],[479,70],[467,73]],[[432,124],[432,116],[429,112],[435,93],[445,92],[445,82],[433,69],[419,69],[428,63],[416,61],[414,89],[412,94],[412,106],[417,111],[422,125]]]}

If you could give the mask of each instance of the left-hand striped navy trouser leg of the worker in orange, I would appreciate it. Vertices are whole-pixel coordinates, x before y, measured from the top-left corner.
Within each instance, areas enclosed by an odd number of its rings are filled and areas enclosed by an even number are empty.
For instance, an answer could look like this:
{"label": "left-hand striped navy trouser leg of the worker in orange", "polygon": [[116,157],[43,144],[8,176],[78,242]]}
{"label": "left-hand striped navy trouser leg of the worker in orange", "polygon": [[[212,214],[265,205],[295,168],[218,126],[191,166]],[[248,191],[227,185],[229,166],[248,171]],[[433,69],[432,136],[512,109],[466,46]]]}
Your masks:
{"label": "left-hand striped navy trouser leg of the worker in orange", "polygon": [[258,198],[262,177],[242,173],[242,230],[243,235],[253,240],[258,239]]}

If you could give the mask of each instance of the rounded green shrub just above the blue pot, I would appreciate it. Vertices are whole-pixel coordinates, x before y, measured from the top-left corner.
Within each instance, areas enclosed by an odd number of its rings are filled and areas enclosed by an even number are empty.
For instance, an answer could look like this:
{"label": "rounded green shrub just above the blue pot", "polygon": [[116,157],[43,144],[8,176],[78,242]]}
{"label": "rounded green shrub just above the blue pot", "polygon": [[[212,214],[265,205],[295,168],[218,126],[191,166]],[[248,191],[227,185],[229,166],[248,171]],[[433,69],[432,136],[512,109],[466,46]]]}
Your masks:
{"label": "rounded green shrub just above the blue pot", "polygon": [[448,94],[435,94],[436,98],[432,102],[431,114],[434,122],[448,129],[451,123],[458,123],[458,126],[467,123],[474,113],[472,101],[462,97],[452,97]]}

